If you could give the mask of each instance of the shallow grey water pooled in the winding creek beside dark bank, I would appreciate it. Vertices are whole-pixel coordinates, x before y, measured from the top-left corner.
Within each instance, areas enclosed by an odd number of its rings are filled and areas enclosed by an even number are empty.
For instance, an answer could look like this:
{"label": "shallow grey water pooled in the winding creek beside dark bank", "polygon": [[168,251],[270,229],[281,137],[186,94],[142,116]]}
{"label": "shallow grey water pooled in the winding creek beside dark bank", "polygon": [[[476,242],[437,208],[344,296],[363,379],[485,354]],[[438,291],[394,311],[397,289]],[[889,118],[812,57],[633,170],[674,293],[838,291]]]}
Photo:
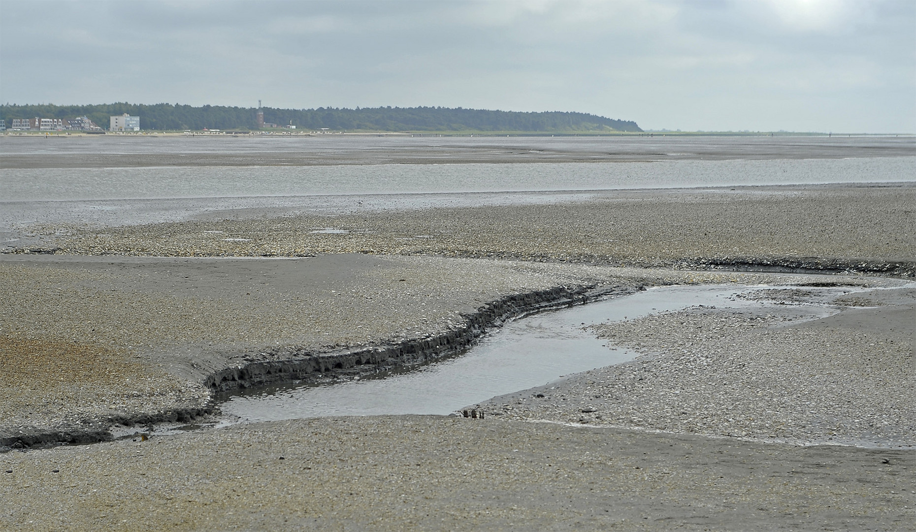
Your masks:
{"label": "shallow grey water pooled in the winding creek beside dark bank", "polygon": [[[507,323],[461,356],[408,373],[330,385],[288,385],[236,392],[221,406],[246,421],[387,414],[447,415],[458,408],[590,369],[620,364],[638,353],[610,349],[585,328],[697,305],[764,305],[736,294],[764,287],[649,288],[622,298],[529,316]],[[767,287],[769,288],[769,287]]]}

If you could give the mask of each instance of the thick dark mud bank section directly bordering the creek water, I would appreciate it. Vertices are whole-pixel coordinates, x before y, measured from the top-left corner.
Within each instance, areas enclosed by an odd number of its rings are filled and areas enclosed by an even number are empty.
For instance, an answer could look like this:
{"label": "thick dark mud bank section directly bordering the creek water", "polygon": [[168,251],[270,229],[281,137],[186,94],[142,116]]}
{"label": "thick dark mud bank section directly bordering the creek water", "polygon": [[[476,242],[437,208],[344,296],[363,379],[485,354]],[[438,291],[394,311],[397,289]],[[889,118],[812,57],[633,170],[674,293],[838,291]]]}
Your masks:
{"label": "thick dark mud bank section directly bordering the creek water", "polygon": [[[594,299],[632,294],[643,287],[556,287],[498,299],[466,316],[460,329],[388,345],[311,353],[278,349],[247,357],[248,363],[209,375],[203,384],[214,392],[283,381],[317,382],[324,379],[375,375],[397,371],[461,353],[487,329],[506,320],[541,310],[562,309]],[[254,360],[252,360],[254,359]]]}

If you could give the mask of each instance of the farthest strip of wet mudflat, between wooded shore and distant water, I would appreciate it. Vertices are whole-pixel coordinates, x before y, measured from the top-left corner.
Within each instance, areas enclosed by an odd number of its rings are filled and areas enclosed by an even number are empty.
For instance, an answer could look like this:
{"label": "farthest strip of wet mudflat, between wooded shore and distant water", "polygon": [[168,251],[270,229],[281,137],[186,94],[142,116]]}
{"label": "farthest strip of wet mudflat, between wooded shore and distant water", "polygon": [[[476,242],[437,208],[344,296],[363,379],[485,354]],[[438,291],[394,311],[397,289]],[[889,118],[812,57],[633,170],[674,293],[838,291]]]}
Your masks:
{"label": "farthest strip of wet mudflat, between wooded shore and distant water", "polygon": [[911,157],[913,137],[4,136],[0,153],[0,168]]}

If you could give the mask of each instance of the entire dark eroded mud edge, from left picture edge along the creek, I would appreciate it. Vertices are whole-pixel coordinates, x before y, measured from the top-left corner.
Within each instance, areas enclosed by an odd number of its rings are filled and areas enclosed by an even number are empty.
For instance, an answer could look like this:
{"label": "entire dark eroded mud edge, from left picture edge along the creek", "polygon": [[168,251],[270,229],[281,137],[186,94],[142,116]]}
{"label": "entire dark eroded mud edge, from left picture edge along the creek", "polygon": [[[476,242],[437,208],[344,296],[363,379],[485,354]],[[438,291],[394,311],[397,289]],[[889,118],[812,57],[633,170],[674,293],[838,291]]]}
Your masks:
{"label": "entire dark eroded mud edge, from left picture edge along the creek", "polygon": [[83,444],[113,440],[114,425],[147,426],[162,422],[191,423],[218,413],[216,393],[239,387],[280,382],[316,382],[320,379],[372,375],[409,368],[457,354],[474,344],[484,333],[507,320],[542,310],[562,309],[596,299],[625,296],[645,289],[642,286],[554,287],[513,294],[477,309],[466,316],[459,329],[412,338],[404,342],[358,348],[310,352],[304,349],[280,348],[258,351],[245,356],[246,364],[226,367],[206,376],[202,384],[211,390],[204,405],[193,404],[162,412],[140,415],[116,415],[97,420],[83,420],[81,426],[39,429],[18,427],[0,432],[0,452],[13,449],[40,448],[58,444]]}

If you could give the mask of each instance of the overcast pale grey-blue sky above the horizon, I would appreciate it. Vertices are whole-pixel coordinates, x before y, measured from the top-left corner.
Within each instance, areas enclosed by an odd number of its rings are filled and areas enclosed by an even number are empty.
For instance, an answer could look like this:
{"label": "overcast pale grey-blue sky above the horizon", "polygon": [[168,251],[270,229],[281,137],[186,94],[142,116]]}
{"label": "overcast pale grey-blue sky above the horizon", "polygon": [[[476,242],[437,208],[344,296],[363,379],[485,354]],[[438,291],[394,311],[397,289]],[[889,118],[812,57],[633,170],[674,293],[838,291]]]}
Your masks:
{"label": "overcast pale grey-blue sky above the horizon", "polygon": [[916,2],[12,2],[0,101],[916,131]]}

